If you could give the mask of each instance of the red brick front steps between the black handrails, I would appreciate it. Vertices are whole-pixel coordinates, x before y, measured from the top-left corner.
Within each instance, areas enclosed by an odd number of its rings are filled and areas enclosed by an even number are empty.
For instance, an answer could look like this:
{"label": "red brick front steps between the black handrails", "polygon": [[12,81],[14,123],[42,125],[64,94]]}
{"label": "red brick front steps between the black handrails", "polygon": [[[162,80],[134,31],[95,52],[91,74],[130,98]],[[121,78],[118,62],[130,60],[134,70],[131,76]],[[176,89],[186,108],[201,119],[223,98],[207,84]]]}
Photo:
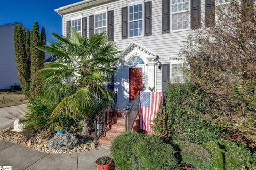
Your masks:
{"label": "red brick front steps between the black handrails", "polygon": [[115,137],[123,132],[125,132],[125,113],[117,113],[117,116],[112,119],[112,123],[108,125],[107,130],[104,132],[105,135],[100,138],[100,145],[110,147]]}

